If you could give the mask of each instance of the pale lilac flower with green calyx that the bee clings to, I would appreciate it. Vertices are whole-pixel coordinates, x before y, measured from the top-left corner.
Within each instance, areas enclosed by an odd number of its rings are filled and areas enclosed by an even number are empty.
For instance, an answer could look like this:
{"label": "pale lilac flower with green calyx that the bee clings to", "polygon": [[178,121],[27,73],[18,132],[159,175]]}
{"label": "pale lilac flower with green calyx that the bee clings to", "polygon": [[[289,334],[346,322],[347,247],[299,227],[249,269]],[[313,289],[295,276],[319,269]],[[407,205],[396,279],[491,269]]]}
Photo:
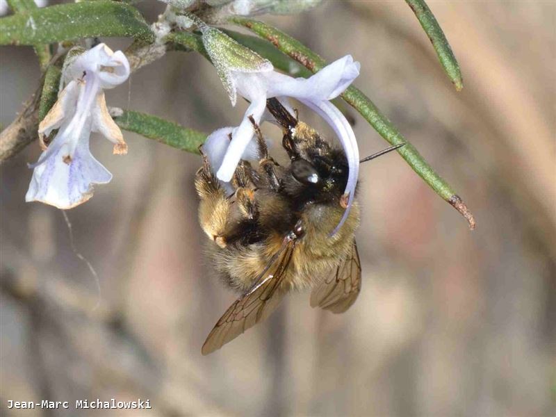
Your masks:
{"label": "pale lilac flower with green calyx that the bee clings to", "polygon": [[[245,149],[252,142],[254,129],[248,117],[252,116],[259,124],[265,113],[267,99],[277,97],[286,104],[287,98],[293,97],[332,126],[347,157],[350,168],[345,188],[345,195],[348,196],[347,208],[341,222],[334,229],[335,233],[352,206],[359,176],[359,148],[349,122],[329,100],[338,97],[359,75],[359,63],[347,55],[322,68],[309,79],[294,79],[276,72],[268,60],[231,40],[218,29],[204,26],[201,30],[205,48],[222,78],[232,105],[236,103],[237,94],[250,101],[242,122],[232,133],[222,163],[215,165],[216,176],[222,181],[230,181]],[[245,56],[248,58],[243,60]],[[242,62],[246,65],[242,66]]]}

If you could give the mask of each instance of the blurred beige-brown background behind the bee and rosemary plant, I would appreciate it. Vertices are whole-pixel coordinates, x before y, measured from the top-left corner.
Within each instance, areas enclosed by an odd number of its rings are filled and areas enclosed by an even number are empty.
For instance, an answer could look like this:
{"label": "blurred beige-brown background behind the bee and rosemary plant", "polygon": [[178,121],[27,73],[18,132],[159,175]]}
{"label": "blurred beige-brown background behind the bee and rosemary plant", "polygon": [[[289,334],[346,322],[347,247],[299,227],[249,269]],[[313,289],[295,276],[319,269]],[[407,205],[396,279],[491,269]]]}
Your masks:
{"label": "blurred beige-brown background behind the bee and rosemary plant", "polygon": [[[95,279],[62,213],[24,202],[34,143],[1,166],[1,413],[144,415],[6,409],[7,400],[140,397],[152,416],[554,416],[556,3],[429,3],[461,65],[460,93],[402,1],[327,1],[263,19],[329,60],[359,60],[355,85],[464,198],[475,231],[399,156],[363,165],[363,288],[352,309],[334,316],[292,295],[202,357],[235,297],[204,262],[199,158],[126,132],[125,157],[92,141],[114,179],[67,214],[99,275],[94,309]],[[152,20],[163,5],[140,8]],[[0,58],[6,126],[39,73],[30,48]],[[206,132],[245,111],[229,106],[204,58],[184,53],[107,100]],[[356,118],[361,155],[384,148]]]}

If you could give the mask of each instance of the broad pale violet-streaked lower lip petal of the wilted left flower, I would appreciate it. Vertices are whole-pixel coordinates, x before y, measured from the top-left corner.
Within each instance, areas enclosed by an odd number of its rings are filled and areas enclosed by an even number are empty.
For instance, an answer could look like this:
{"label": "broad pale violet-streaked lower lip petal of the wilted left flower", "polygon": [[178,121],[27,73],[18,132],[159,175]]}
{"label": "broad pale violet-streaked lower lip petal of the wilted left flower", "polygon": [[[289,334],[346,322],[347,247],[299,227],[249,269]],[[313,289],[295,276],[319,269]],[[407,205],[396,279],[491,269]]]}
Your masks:
{"label": "broad pale violet-streaked lower lip petal of the wilted left flower", "polygon": [[26,202],[37,201],[58,208],[72,208],[92,197],[93,184],[111,181],[112,174],[90,153],[88,137],[79,140],[69,163],[67,159],[64,161],[67,152],[64,145],[52,149],[55,149],[54,155],[33,170]]}

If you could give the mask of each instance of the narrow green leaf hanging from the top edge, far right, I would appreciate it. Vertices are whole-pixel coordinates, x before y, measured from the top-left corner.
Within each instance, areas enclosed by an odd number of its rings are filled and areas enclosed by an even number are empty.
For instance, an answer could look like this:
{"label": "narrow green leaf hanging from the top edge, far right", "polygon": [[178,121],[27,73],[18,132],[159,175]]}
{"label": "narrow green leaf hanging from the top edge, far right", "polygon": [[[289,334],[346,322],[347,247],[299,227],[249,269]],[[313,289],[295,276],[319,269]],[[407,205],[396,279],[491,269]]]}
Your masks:
{"label": "narrow green leaf hanging from the top edge, far right", "polygon": [[454,84],[457,91],[461,91],[464,88],[464,80],[461,78],[461,71],[459,70],[459,64],[457,63],[456,57],[452,52],[452,48],[446,39],[439,22],[436,21],[436,17],[430,11],[429,6],[425,3],[425,0],[405,0],[411,10],[414,11],[417,19],[425,33],[430,39],[436,55],[439,56],[440,63],[444,67],[444,71],[450,77],[450,80]]}

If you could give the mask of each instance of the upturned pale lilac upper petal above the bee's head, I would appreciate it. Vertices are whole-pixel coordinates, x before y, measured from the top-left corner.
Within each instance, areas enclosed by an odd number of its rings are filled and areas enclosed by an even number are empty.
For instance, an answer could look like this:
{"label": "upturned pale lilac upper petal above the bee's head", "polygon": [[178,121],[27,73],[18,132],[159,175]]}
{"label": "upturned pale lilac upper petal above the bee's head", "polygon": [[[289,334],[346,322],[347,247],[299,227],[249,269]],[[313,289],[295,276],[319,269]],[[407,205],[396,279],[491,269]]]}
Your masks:
{"label": "upturned pale lilac upper petal above the bee's head", "polygon": [[359,75],[360,64],[351,55],[335,60],[308,79],[273,72],[268,74],[268,97],[285,95],[311,101],[332,100],[349,87]]}

